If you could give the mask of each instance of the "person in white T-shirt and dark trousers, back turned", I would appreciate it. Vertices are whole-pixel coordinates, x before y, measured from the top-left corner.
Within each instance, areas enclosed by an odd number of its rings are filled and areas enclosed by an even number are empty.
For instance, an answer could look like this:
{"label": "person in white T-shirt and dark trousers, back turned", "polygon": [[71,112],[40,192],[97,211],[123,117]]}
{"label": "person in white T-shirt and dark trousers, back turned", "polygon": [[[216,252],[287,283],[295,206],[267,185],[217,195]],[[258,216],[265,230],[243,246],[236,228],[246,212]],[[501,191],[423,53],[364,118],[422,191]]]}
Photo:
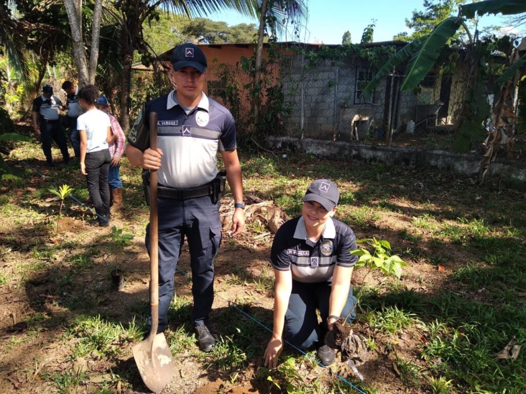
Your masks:
{"label": "person in white T-shirt and dark trousers, back turned", "polygon": [[87,85],[78,92],[79,104],[86,111],[77,118],[80,135],[80,172],[86,175],[89,196],[97,213],[93,224],[109,225],[108,170],[112,157],[108,142],[112,133],[108,115],[95,107],[99,89]]}

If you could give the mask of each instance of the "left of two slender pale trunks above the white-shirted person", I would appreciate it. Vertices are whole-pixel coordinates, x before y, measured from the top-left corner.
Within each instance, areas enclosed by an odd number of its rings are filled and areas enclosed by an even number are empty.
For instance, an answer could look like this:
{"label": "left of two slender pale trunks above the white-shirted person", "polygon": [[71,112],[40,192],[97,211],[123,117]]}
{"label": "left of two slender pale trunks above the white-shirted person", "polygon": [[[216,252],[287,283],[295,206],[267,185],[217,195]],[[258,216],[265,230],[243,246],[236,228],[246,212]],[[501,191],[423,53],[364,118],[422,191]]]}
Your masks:
{"label": "left of two slender pale trunks above the white-shirted person", "polygon": [[71,27],[73,54],[78,70],[78,86],[83,87],[89,84],[89,71],[82,39],[82,0],[64,0],[64,6]]}

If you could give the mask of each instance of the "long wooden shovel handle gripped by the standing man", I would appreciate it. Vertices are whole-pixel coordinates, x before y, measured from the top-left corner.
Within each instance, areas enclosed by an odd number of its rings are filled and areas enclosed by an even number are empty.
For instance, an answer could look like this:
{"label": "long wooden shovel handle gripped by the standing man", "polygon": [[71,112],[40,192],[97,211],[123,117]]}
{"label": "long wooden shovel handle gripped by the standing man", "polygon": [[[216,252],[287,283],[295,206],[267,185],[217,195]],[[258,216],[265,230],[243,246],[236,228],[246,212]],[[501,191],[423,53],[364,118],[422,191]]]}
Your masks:
{"label": "long wooden shovel handle gripped by the standing man", "polygon": [[[150,149],[157,150],[157,112],[150,113]],[[159,325],[159,247],[157,221],[157,170],[150,170],[150,337]]]}

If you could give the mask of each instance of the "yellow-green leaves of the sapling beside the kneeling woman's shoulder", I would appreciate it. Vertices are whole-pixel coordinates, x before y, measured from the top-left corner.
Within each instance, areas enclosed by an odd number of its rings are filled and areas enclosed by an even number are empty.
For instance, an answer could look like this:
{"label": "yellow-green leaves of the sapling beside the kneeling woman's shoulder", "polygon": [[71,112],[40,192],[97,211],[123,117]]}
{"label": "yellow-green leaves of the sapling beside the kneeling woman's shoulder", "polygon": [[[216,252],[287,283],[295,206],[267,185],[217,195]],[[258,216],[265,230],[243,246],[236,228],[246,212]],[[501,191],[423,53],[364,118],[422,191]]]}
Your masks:
{"label": "yellow-green leaves of the sapling beside the kneeling woman's shoulder", "polygon": [[407,263],[398,255],[391,255],[391,244],[388,241],[372,238],[357,240],[356,243],[372,247],[372,254],[366,248],[358,248],[350,252],[358,257],[356,268],[367,266],[369,270],[381,269],[384,274],[400,279],[402,267],[407,266]]}

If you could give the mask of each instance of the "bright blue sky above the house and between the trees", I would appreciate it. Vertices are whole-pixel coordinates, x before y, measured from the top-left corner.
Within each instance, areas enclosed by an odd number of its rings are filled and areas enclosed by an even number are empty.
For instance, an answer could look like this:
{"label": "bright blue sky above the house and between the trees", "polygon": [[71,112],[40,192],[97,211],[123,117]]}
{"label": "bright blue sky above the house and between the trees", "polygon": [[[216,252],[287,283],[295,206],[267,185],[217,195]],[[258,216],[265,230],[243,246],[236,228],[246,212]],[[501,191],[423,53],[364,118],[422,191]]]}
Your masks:
{"label": "bright blue sky above the house and between the trees", "polygon": [[[315,41],[324,44],[341,44],[341,36],[346,30],[351,32],[352,42],[360,42],[363,29],[371,18],[377,19],[374,40],[387,41],[392,36],[407,31],[405,18],[411,18],[414,9],[423,9],[423,0],[306,0],[309,16],[301,30],[301,42]],[[238,23],[258,23],[255,19],[241,16],[234,12],[209,15],[213,20],[224,20],[229,25]],[[479,26],[503,26],[505,17],[485,15]],[[295,40],[294,37],[282,36],[281,40]]]}

